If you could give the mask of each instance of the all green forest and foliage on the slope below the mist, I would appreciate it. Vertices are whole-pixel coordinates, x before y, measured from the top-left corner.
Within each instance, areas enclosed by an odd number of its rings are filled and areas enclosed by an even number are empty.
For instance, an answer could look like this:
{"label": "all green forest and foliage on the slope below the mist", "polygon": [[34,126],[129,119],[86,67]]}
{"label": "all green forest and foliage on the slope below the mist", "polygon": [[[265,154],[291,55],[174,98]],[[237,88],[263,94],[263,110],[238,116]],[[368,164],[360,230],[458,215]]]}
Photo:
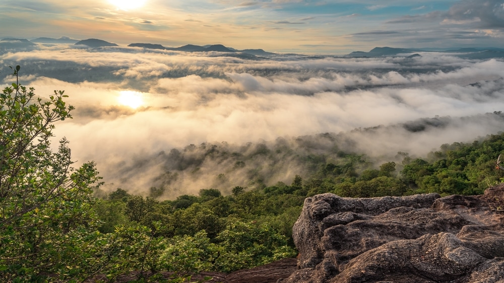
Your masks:
{"label": "all green forest and foliage on the slope below the mist", "polygon": [[[18,72],[19,66],[16,78]],[[55,91],[36,99],[18,82],[0,95],[0,281],[83,281],[96,274],[113,281],[137,270],[140,282],[160,280],[159,271],[230,272],[295,256],[292,226],[308,196],[480,194],[504,180],[504,170],[495,169],[504,133],[443,145],[424,158],[400,152],[401,161],[380,164],[339,150],[337,140],[321,134],[299,138],[296,148],[279,139],[273,147],[247,145],[243,153],[205,144],[197,155],[188,146],[170,153],[178,169],[170,168],[149,195],[107,193],[94,163],[72,167],[66,139],[50,150],[53,123],[72,118],[65,97]],[[222,173],[216,179],[225,190],[210,184],[198,195],[163,199],[177,170],[197,175],[206,158],[246,168],[250,186],[233,185]],[[266,169],[251,169],[261,161]],[[268,166],[282,162],[295,163],[299,175],[290,184],[265,184]]]}

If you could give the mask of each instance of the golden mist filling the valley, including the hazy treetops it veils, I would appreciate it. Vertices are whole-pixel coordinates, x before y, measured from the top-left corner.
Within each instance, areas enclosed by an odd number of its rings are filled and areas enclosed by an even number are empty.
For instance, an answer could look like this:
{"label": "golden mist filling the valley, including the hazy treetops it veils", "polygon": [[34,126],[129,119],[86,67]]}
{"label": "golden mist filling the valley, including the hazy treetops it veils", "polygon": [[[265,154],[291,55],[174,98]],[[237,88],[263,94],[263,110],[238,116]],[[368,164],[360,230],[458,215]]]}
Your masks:
{"label": "golden mist filling the valley, including the hazy treetops it veils", "polygon": [[[504,62],[449,52],[384,57],[225,56],[140,47],[0,44],[20,83],[65,90],[74,119],[57,124],[77,163],[97,162],[104,190],[165,198],[290,184],[310,159],[344,154],[400,163],[502,130]],[[2,48],[4,46],[4,48]],[[7,46],[7,47],[5,47]],[[121,92],[141,98],[134,109]],[[57,144],[57,143],[53,143]]]}

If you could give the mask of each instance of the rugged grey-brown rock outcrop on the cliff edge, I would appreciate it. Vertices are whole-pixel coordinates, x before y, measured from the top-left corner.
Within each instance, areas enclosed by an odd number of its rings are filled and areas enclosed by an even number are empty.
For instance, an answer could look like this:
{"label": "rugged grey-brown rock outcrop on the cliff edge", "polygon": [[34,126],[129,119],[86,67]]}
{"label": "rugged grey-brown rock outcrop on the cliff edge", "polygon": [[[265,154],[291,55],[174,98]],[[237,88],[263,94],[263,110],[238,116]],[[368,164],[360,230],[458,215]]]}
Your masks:
{"label": "rugged grey-brown rock outcrop on the cliff edge", "polygon": [[504,282],[504,185],[484,195],[306,198],[282,283]]}

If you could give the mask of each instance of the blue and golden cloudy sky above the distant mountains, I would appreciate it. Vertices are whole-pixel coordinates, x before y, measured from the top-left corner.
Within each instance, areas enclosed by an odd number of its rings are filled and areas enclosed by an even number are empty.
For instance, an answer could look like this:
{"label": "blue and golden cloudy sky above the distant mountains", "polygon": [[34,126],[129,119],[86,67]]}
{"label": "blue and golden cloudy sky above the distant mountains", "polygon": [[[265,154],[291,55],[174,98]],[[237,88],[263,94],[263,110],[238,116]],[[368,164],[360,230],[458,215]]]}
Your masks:
{"label": "blue and golden cloudy sky above the distant mountains", "polygon": [[500,47],[502,0],[2,0],[0,38],[98,38],[122,46],[223,44],[346,54]]}

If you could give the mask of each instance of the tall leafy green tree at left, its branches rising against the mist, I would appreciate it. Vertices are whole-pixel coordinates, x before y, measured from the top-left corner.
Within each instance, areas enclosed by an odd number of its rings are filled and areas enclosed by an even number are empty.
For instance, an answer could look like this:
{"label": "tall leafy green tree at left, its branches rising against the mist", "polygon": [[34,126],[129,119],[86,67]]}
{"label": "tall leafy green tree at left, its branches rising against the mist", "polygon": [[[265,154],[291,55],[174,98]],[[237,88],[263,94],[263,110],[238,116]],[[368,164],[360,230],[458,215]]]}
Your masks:
{"label": "tall leafy green tree at left, its branches rising against the mist", "polygon": [[[13,70],[17,79],[20,67]],[[72,118],[66,97],[36,98],[18,80],[0,94],[0,281],[71,276],[79,245],[96,227],[95,164],[72,167],[65,138],[56,152],[50,147],[54,122]]]}

